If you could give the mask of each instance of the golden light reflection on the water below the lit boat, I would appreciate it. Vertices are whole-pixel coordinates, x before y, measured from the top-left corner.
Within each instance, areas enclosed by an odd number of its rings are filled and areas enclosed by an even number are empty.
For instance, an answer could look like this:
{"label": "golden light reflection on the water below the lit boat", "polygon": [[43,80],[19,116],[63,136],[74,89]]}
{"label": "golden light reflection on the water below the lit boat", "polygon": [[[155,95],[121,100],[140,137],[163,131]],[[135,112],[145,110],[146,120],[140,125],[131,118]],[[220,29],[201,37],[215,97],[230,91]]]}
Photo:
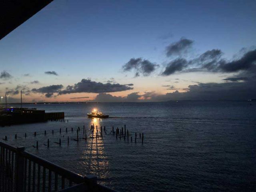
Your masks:
{"label": "golden light reflection on the water below the lit boat", "polygon": [[104,151],[104,137],[106,135],[101,123],[102,119],[92,118],[89,128],[86,128],[87,147],[84,148],[82,158],[88,174],[94,174],[104,179],[109,177],[109,163]]}

